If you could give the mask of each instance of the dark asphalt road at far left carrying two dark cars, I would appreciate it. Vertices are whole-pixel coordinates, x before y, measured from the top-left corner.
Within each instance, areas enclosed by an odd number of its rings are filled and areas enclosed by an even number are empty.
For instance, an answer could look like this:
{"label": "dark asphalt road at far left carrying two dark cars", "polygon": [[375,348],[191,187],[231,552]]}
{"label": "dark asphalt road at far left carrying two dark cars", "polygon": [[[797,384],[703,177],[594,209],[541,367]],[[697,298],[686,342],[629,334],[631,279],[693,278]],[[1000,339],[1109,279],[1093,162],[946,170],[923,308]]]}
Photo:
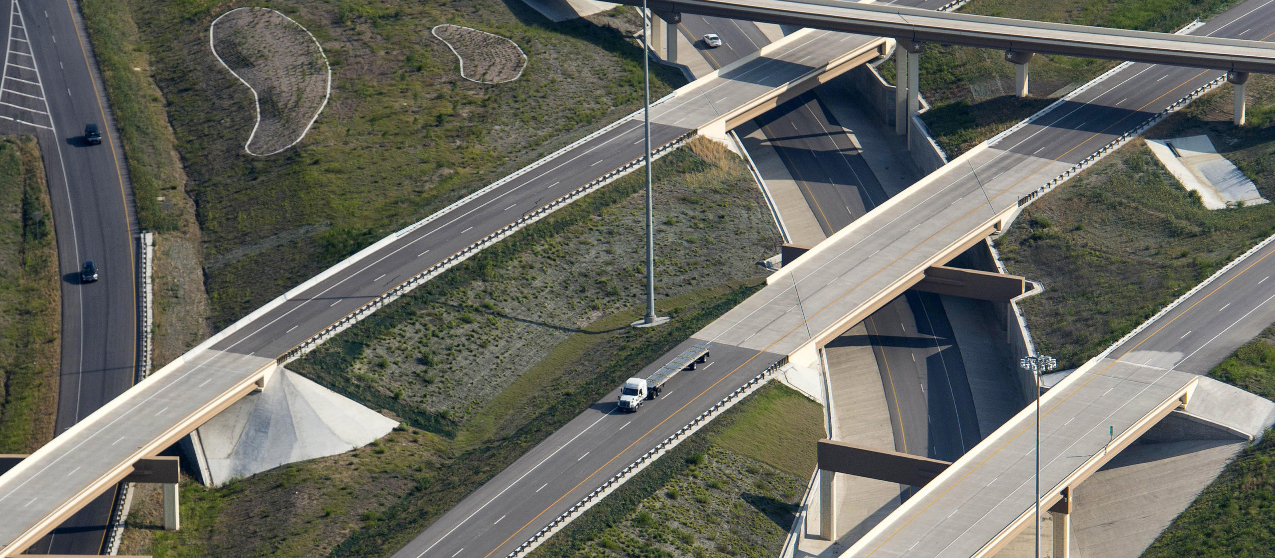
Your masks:
{"label": "dark asphalt road at far left carrying two dark cars", "polygon": [[[33,134],[43,152],[62,274],[61,383],[56,432],[133,386],[136,220],[106,96],[92,50],[66,1],[4,1],[6,65],[0,130]],[[10,120],[11,118],[11,120]],[[97,124],[101,145],[83,141]],[[82,284],[84,260],[99,279]],[[97,554],[115,489],[97,498],[31,552]]]}

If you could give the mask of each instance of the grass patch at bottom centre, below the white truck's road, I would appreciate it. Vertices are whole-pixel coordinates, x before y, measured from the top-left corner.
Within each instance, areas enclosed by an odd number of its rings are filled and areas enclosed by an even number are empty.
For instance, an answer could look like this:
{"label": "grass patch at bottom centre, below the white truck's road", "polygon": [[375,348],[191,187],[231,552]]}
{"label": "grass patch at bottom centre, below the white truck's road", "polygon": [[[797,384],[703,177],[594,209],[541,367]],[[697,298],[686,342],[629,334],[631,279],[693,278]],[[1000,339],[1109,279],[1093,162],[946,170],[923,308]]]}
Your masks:
{"label": "grass patch at bottom centre, below the white truck's road", "polygon": [[773,557],[824,437],[819,404],[771,382],[553,535],[534,558]]}

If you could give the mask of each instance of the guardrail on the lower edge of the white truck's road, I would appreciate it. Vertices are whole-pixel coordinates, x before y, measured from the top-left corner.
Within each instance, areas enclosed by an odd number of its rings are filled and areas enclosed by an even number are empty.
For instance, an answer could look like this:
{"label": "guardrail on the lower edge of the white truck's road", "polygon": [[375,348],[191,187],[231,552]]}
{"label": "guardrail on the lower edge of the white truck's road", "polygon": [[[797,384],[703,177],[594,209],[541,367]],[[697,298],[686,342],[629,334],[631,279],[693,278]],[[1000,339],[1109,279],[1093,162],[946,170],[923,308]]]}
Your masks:
{"label": "guardrail on the lower edge of the white truck's road", "polygon": [[539,531],[536,531],[534,535],[527,539],[527,541],[524,541],[523,544],[518,545],[518,548],[515,548],[513,552],[506,554],[505,558],[519,558],[524,553],[530,552],[532,549],[538,547],[539,543],[543,541],[543,539],[548,539],[550,535],[556,533],[558,529],[566,526],[566,524],[571,522],[571,520],[574,520],[580,513],[584,513],[584,510],[592,506],[595,501],[602,499],[602,497],[607,496],[608,493],[611,493],[611,490],[618,488],[621,484],[629,480],[629,476],[636,474],[639,470],[645,468],[645,465],[648,465],[650,461],[659,459],[664,454],[664,451],[672,450],[673,446],[677,446],[677,443],[680,443],[683,437],[688,437],[701,426],[706,424],[709,420],[713,420],[714,418],[717,418],[718,414],[720,414],[727,408],[733,405],[737,399],[740,399],[743,395],[751,394],[756,387],[760,387],[761,383],[769,381],[770,377],[787,362],[788,359],[784,358],[779,362],[770,364],[769,367],[766,367],[766,369],[761,371],[761,373],[754,376],[751,380],[745,382],[743,386],[737,387],[725,397],[722,397],[720,401],[714,403],[713,406],[710,406],[708,410],[700,413],[700,415],[695,417],[690,423],[687,423],[682,428],[678,428],[677,432],[669,434],[667,438],[657,443],[655,447],[646,451],[645,454],[639,456],[634,462],[623,468],[620,473],[616,473],[613,476],[607,479],[604,483],[602,483],[601,487],[593,489],[593,492],[589,492],[589,494],[586,494],[579,502],[571,504],[571,507],[567,508],[567,511],[555,517],[553,521],[550,521],[550,524],[543,529],[541,529]]}

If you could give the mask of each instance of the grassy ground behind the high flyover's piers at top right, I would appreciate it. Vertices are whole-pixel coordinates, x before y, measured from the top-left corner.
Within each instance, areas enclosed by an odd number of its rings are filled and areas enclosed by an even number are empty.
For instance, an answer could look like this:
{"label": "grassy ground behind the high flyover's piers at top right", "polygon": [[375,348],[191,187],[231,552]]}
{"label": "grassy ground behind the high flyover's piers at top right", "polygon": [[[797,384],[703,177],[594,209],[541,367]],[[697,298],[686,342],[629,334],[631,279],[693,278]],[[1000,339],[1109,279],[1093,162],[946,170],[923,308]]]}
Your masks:
{"label": "grassy ground behind the high flyover's piers at top right", "polygon": [[[1039,22],[1173,32],[1239,0],[978,0],[959,10]],[[933,104],[922,115],[938,145],[956,157],[1096,78],[1118,62],[1037,55],[1028,65],[1033,98],[1014,97],[1014,65],[989,48],[926,45],[921,92]],[[892,83],[892,62],[882,65]]]}

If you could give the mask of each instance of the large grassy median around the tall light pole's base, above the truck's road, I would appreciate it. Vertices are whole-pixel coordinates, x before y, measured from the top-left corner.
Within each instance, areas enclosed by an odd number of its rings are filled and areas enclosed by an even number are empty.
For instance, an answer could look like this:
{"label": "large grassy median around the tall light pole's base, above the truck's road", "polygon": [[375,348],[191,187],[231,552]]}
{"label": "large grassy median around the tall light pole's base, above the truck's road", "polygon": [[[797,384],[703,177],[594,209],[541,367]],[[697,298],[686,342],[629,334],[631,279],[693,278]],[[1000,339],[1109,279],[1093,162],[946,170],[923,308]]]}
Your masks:
{"label": "large grassy median around the tall light pole's base, above the truck's road", "polygon": [[[657,162],[655,176],[657,222],[666,223],[657,233],[667,259],[659,264],[660,292],[669,296],[658,307],[673,316],[671,324],[627,326],[643,303],[635,294],[643,245],[632,229],[641,220],[643,177],[634,173],[482,251],[292,364],[363,404],[393,410],[409,431],[218,489],[187,485],[191,526],[130,530],[125,550],[391,554],[625,377],[759,288],[755,261],[774,254],[778,240],[742,162],[717,144],[695,143]],[[725,234],[732,242],[709,242]],[[692,252],[701,246],[704,254]],[[691,257],[711,269],[696,269]],[[486,376],[463,376],[479,372]],[[449,386],[450,395],[439,386]],[[465,404],[437,409],[430,406],[433,399]],[[150,510],[134,520],[156,525],[158,510]],[[238,529],[245,525],[247,531]]]}

